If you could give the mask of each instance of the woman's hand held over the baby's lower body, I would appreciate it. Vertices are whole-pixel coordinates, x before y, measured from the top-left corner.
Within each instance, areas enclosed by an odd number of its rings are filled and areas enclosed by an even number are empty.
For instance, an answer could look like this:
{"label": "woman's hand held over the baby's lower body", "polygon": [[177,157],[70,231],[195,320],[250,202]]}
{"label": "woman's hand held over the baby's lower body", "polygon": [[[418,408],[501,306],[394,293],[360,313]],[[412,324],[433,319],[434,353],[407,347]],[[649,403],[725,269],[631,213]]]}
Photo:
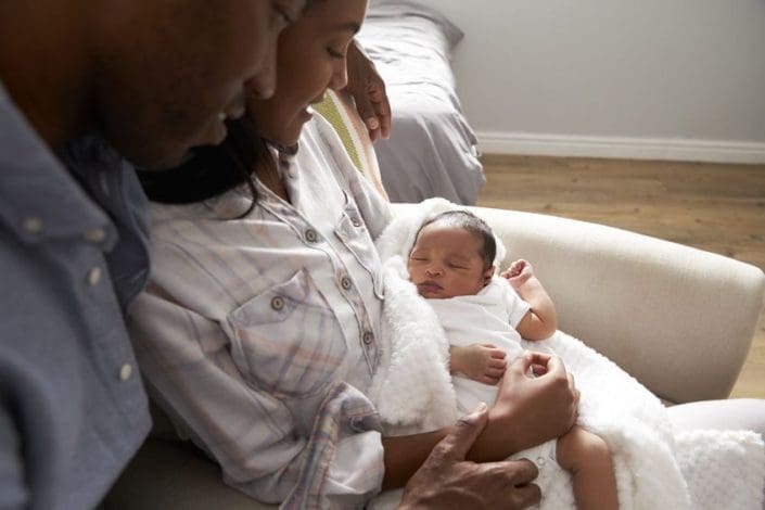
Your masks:
{"label": "woman's hand held over the baby's lower body", "polygon": [[[534,375],[530,375],[530,369]],[[489,423],[470,450],[479,461],[503,459],[564,434],[576,421],[579,392],[557,356],[526,353],[499,383]]]}

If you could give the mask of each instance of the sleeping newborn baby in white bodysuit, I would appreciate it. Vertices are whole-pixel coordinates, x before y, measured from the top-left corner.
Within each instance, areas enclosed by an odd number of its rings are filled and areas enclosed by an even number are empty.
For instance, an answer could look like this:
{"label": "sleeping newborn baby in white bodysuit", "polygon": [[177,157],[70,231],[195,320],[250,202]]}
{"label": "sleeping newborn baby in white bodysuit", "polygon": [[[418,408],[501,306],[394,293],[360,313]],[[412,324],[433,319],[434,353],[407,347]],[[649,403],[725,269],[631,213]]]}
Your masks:
{"label": "sleeping newborn baby in white bodysuit", "polygon": [[[521,355],[521,339],[556,331],[552,301],[526,260],[493,278],[496,242],[489,227],[464,211],[425,221],[409,254],[409,279],[433,306],[449,341],[450,370],[461,410],[492,403],[508,359]],[[616,509],[616,481],[608,445],[575,425],[530,455],[545,472],[545,458],[572,475],[578,509]]]}

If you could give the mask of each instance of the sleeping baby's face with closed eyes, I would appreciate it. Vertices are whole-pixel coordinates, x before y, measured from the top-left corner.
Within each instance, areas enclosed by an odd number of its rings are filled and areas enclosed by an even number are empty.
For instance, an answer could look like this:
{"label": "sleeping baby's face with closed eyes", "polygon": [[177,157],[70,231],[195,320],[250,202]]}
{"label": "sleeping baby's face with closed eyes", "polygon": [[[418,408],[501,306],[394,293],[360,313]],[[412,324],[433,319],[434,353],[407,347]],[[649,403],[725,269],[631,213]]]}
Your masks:
{"label": "sleeping baby's face with closed eyes", "polygon": [[493,271],[484,269],[482,248],[482,241],[462,228],[430,224],[420,230],[409,254],[409,280],[428,298],[477,294]]}

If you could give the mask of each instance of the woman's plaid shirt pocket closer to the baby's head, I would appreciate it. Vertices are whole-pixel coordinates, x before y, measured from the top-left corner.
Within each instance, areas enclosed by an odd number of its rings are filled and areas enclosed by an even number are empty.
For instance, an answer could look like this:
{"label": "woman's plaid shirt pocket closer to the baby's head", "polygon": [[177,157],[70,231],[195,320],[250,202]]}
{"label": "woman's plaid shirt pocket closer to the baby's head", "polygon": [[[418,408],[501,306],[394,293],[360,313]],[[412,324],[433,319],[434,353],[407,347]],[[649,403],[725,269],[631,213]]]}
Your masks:
{"label": "woman's plaid shirt pocket closer to the baby's head", "polygon": [[343,214],[334,228],[334,233],[343,245],[354,255],[354,258],[364,267],[372,279],[372,288],[378,298],[383,298],[382,264],[380,255],[374,247],[367,226],[361,218],[356,205],[345,195]]}

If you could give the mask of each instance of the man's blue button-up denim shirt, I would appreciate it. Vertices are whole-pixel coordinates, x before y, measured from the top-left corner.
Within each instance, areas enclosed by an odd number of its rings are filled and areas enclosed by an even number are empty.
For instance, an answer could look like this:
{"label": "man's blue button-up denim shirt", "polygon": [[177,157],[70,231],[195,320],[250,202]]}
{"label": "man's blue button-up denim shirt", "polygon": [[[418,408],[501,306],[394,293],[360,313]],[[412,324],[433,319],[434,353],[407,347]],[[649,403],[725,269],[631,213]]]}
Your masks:
{"label": "man's blue button-up denim shirt", "polygon": [[93,508],[149,431],[124,321],[145,211],[113,150],[56,157],[0,84],[0,508]]}

